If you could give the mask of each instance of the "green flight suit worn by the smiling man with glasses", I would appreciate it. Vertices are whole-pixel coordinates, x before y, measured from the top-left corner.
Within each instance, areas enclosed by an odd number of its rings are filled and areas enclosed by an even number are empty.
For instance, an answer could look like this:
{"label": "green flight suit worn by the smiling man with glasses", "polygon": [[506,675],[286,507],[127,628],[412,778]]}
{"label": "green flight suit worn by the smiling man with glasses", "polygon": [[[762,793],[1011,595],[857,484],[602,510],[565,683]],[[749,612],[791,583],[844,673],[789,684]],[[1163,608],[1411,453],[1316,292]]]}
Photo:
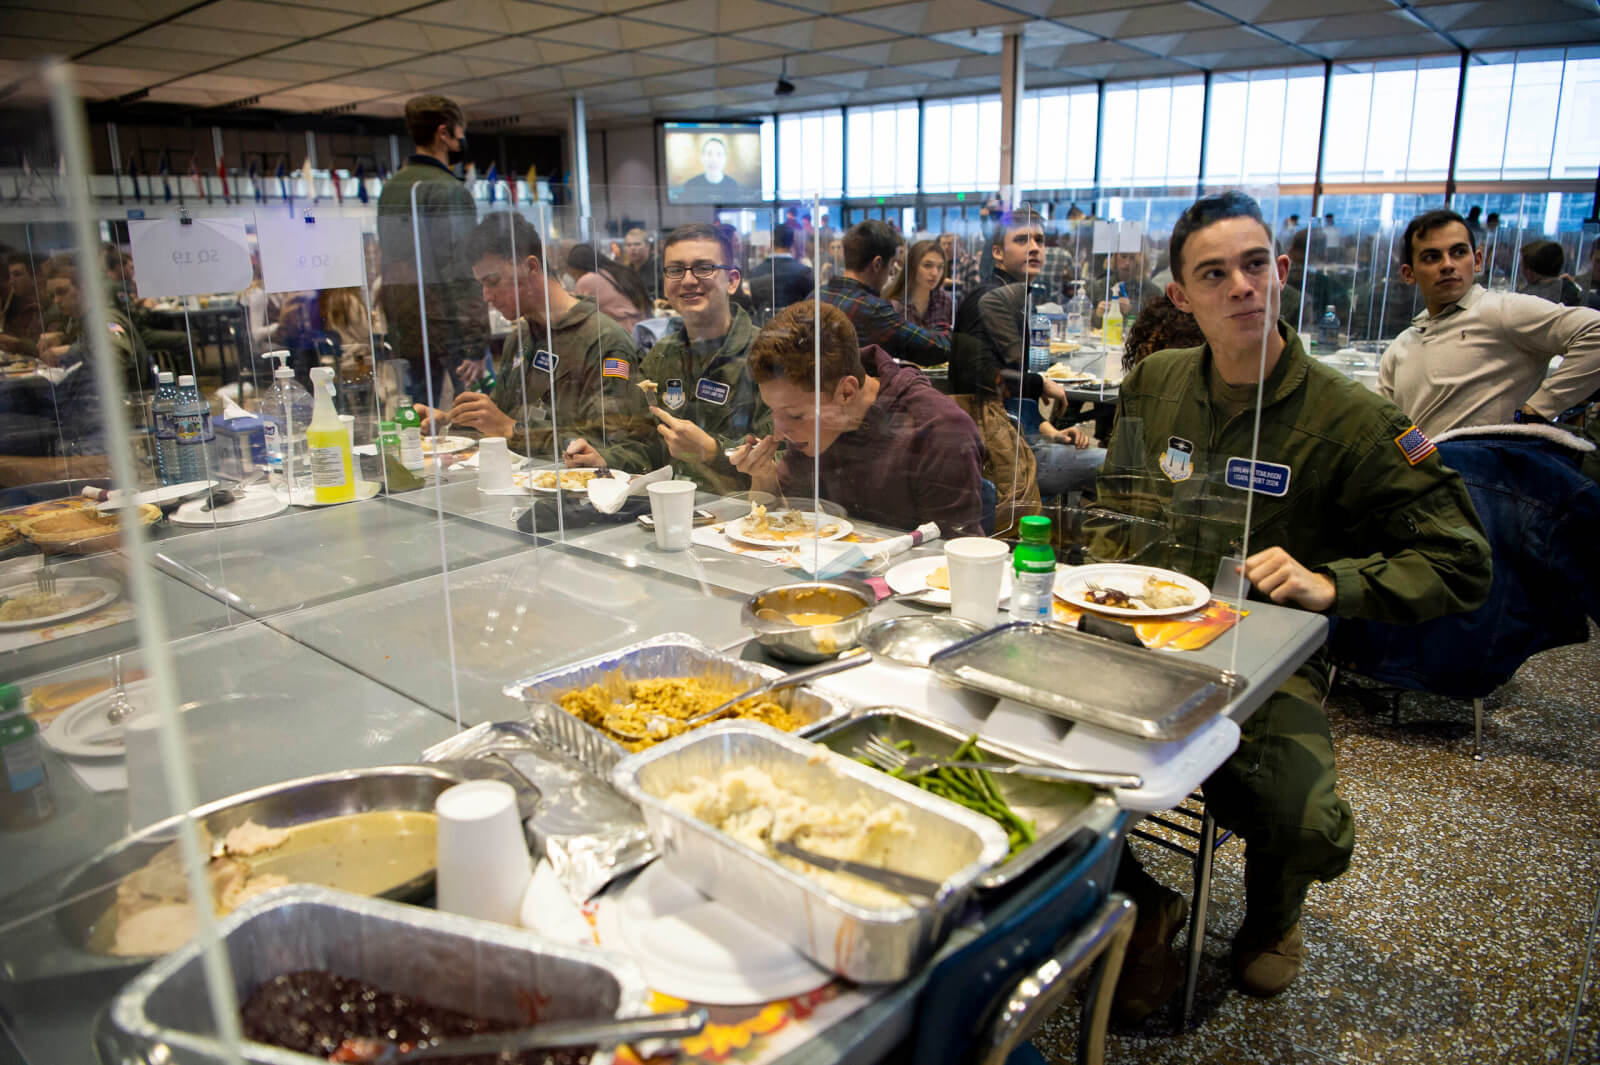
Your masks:
{"label": "green flight suit worn by the smiling man with glasses", "polygon": [[[656,382],[656,405],[674,417],[694,422],[717,441],[717,456],[710,462],[694,462],[674,459],[658,433],[656,465],[670,461],[678,477],[715,493],[749,488],[749,478],[734,470],[723,453],[742,445],[747,433],[765,437],[773,432],[773,413],[762,401],[746,363],[754,339],[750,315],[734,307],[728,336],[715,352],[698,352],[678,323],[645,353],[638,369],[645,379]],[[677,382],[677,389],[670,389],[669,382]]]}

